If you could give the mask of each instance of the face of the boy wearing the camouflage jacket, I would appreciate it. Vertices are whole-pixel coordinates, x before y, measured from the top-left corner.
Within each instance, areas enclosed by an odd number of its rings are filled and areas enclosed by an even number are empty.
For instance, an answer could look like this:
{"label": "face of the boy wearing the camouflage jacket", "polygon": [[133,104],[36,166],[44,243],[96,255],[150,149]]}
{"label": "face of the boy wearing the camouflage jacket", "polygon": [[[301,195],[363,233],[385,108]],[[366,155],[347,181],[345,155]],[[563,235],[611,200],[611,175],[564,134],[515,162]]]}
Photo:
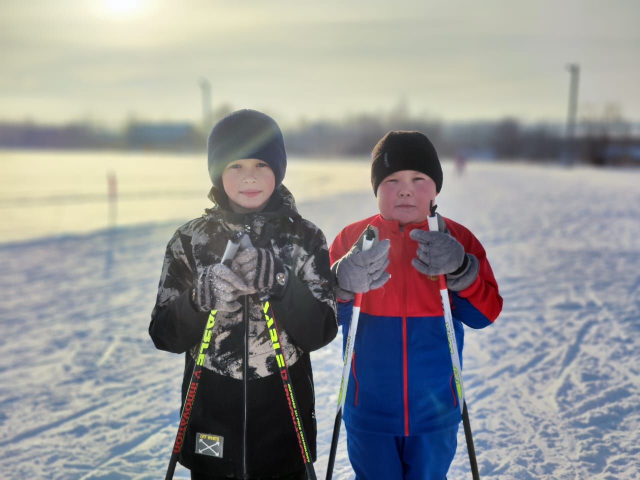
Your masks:
{"label": "face of the boy wearing the camouflage jacket", "polygon": [[230,162],[222,172],[222,186],[234,212],[259,212],[275,189],[276,177],[262,160],[245,158]]}

